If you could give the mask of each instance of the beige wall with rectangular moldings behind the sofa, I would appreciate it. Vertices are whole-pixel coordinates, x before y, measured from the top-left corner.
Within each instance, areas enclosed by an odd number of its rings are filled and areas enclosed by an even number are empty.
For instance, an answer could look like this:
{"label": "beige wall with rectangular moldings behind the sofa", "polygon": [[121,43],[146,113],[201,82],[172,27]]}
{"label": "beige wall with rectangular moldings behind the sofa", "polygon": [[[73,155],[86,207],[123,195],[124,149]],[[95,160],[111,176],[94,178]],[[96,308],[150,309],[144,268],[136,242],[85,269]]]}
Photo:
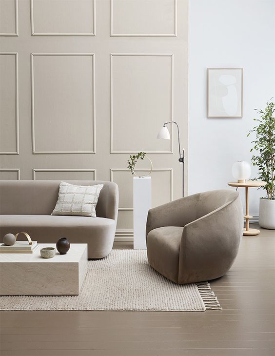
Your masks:
{"label": "beige wall with rectangular moldings behind the sofa", "polygon": [[187,150],[187,88],[188,0],[0,0],[0,179],[113,180],[129,238],[129,154],[153,205],[181,196],[177,133],[156,136],[174,119]]}

